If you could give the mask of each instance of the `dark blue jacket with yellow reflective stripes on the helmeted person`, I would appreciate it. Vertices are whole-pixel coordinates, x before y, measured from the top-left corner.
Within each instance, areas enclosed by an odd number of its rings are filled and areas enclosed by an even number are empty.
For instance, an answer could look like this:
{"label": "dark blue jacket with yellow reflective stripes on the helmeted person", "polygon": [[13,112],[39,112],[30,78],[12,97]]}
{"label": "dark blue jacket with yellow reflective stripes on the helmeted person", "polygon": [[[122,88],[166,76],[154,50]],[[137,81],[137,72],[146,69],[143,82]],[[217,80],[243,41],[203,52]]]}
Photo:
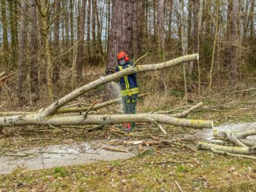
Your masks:
{"label": "dark blue jacket with yellow reflective stripes on the helmeted person", "polygon": [[[127,67],[132,67],[133,63],[130,61],[126,62],[123,66],[119,65],[115,68],[115,71],[121,71]],[[138,94],[139,89],[137,88],[137,74],[129,74],[120,78],[120,87],[122,96],[131,96]]]}

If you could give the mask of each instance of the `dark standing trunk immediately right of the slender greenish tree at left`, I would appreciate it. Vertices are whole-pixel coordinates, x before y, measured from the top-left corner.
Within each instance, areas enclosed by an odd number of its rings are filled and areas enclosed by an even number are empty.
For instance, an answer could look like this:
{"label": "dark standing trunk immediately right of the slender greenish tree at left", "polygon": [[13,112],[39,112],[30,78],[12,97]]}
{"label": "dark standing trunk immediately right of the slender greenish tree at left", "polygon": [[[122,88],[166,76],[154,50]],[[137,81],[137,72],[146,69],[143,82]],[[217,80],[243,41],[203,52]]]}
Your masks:
{"label": "dark standing trunk immediately right of the slender greenish tree at left", "polygon": [[[60,0],[55,0],[54,16],[57,16],[54,24],[54,56],[59,56],[60,54]],[[63,42],[64,43],[64,42]],[[53,63],[53,85],[57,86],[57,81],[60,77],[60,59],[55,60]]]}

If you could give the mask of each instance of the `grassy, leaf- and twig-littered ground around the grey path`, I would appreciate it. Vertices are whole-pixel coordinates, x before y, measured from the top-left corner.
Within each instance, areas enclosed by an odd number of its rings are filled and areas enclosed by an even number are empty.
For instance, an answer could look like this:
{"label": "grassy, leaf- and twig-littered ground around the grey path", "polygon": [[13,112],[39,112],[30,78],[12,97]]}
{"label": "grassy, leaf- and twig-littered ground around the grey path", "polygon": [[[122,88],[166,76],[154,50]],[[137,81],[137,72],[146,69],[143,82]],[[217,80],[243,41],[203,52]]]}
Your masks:
{"label": "grassy, leaf- and twig-littered ground around the grey path", "polygon": [[[218,96],[217,96],[218,95]],[[191,104],[202,101],[204,107],[189,114],[188,118],[213,120],[214,126],[232,123],[256,122],[255,90],[211,96],[189,96]],[[147,100],[161,101],[161,96],[149,96],[141,100],[138,110],[151,111],[155,106]],[[158,109],[170,110],[184,106],[181,98],[170,103],[158,102]],[[162,99],[163,100],[163,99]],[[169,101],[168,101],[169,102]],[[171,107],[168,107],[171,106]],[[178,109],[176,110],[183,110]],[[46,147],[56,144],[74,144],[97,139],[124,143],[146,141],[133,145],[133,158],[115,161],[97,161],[86,165],[46,168],[28,171],[17,168],[0,175],[0,191],[255,191],[256,161],[231,158],[197,150],[199,137],[191,135],[194,129],[165,125],[170,139],[176,145],[152,143],[152,136],[163,138],[157,126],[141,124],[130,136],[112,132],[108,127],[93,126],[6,128],[0,133],[0,155],[30,147]],[[131,144],[130,144],[131,145]]]}

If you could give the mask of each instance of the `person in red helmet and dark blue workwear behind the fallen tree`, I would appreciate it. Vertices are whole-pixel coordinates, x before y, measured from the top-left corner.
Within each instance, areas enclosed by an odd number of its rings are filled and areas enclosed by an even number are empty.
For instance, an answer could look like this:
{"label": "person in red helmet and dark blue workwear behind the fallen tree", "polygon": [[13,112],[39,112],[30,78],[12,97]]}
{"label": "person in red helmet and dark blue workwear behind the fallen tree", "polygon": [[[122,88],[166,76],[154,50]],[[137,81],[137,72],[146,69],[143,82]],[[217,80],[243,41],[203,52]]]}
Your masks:
{"label": "person in red helmet and dark blue workwear behind the fallen tree", "polygon": [[[133,63],[130,62],[126,52],[120,52],[117,56],[119,65],[115,67],[115,72],[122,71],[127,67],[132,67]],[[123,112],[125,114],[136,114],[138,87],[137,87],[137,74],[129,74],[120,78],[120,88],[122,96]],[[132,132],[135,129],[135,123],[129,122],[123,124],[123,129],[126,132]]]}

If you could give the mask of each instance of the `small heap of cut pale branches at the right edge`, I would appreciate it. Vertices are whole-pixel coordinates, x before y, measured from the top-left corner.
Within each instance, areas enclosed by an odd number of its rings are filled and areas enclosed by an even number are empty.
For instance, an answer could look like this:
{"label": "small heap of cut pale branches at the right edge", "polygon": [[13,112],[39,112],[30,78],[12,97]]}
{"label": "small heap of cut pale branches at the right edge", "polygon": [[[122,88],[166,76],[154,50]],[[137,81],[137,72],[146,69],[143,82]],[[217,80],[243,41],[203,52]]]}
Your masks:
{"label": "small heap of cut pale branches at the right edge", "polygon": [[256,160],[251,154],[256,154],[256,140],[247,138],[255,136],[256,129],[243,132],[225,132],[214,130],[214,143],[200,141],[198,148],[211,150],[216,154],[225,154],[236,158],[250,158]]}

